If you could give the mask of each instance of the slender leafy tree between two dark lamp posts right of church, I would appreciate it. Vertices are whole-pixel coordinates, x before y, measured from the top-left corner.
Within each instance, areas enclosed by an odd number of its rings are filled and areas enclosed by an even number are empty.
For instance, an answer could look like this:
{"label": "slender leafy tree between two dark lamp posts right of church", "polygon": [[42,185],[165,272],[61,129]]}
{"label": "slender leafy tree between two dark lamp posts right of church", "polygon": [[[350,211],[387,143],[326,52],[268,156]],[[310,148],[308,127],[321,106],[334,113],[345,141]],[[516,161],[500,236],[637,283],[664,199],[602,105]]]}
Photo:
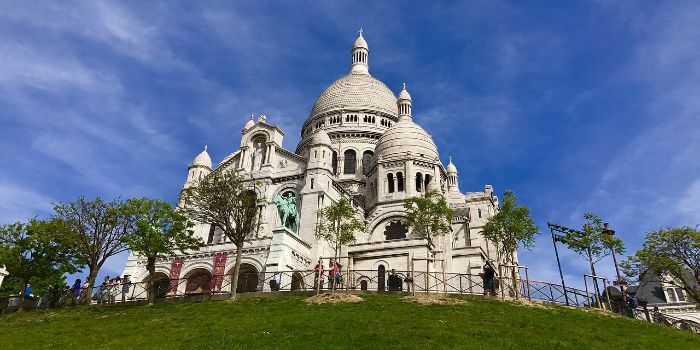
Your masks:
{"label": "slender leafy tree between two dark lamp posts right of church", "polygon": [[[612,249],[624,253],[625,246],[619,238],[603,233],[603,221],[597,215],[586,213],[583,217],[586,223],[580,231],[568,232],[559,240],[576,254],[585,257],[590,265],[591,275],[597,276],[595,264],[610,254]],[[600,293],[597,279],[593,280],[593,284],[597,297]]]}

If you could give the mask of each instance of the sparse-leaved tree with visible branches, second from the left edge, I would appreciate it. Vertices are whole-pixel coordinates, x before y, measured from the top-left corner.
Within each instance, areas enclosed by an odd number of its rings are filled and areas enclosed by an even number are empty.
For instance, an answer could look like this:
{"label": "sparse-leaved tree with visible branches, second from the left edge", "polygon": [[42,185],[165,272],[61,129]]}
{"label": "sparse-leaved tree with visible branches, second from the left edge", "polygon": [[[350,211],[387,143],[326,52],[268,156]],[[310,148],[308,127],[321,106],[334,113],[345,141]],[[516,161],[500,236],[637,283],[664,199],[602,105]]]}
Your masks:
{"label": "sparse-leaved tree with visible branches, second from the left edge", "polygon": [[97,273],[110,257],[128,249],[125,237],[133,226],[127,220],[122,200],[103,201],[100,197],[54,205],[55,217],[69,227],[80,260],[88,267],[85,299],[92,295]]}

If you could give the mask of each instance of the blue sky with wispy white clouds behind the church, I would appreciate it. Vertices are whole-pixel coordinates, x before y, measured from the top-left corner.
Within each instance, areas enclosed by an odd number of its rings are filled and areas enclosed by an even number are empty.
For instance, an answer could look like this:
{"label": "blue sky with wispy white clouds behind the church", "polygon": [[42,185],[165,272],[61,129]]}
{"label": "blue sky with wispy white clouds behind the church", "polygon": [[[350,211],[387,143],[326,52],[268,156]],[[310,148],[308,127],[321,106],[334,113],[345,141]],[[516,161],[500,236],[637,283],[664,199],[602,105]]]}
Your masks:
{"label": "blue sky with wispy white clouds behind the church", "polygon": [[[594,212],[632,252],[700,223],[698,18],[693,1],[0,1],[0,223],[79,195],[174,202],[251,113],[294,150],[363,27],[370,72],[407,83],[461,190],[531,207],[543,234],[521,260],[557,281],[547,221]],[[562,255],[580,285],[585,261]]]}

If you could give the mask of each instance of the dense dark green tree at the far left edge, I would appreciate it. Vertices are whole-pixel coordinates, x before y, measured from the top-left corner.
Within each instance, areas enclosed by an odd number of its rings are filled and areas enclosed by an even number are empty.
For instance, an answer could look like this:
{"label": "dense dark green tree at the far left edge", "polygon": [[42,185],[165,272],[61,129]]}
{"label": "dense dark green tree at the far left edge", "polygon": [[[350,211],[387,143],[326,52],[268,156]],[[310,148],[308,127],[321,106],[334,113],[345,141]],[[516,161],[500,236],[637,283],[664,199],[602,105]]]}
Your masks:
{"label": "dense dark green tree at the far left edge", "polygon": [[24,290],[32,279],[77,271],[68,227],[61,220],[37,219],[0,226],[0,265],[5,265],[10,275],[20,281],[21,311]]}

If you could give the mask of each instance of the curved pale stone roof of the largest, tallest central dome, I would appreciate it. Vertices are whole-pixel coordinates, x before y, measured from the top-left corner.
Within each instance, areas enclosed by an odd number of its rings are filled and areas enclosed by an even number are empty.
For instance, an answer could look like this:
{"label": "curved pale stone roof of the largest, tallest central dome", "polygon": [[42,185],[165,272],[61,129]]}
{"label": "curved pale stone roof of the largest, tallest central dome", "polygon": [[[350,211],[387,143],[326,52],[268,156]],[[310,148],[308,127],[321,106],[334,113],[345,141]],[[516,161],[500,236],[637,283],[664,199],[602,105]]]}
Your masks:
{"label": "curved pale stone roof of the largest, tallest central dome", "polygon": [[350,73],[331,84],[318,97],[310,117],[338,110],[372,110],[396,116],[396,96],[384,83],[368,74]]}

